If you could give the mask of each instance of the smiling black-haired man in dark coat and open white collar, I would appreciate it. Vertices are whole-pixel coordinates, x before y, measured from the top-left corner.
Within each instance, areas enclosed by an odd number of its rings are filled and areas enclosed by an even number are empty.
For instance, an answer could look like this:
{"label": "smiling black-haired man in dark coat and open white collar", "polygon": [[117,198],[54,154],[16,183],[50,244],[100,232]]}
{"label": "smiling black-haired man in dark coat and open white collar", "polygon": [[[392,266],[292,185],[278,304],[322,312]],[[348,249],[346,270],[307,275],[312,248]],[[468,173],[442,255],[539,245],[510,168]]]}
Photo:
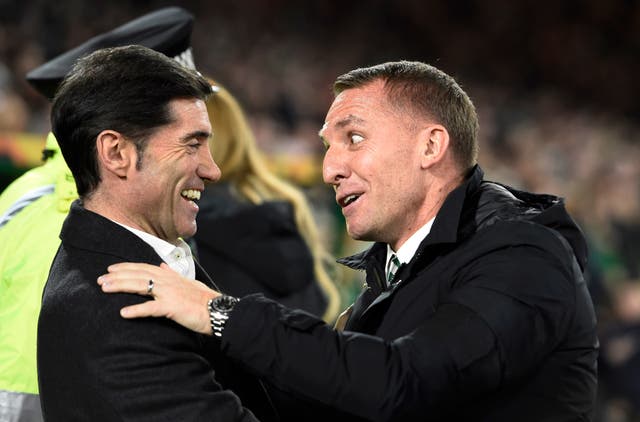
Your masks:
{"label": "smiling black-haired man in dark coat and open white collar", "polygon": [[212,338],[171,321],[123,320],[119,308],[141,299],[105,298],[94,283],[121,261],[208,279],[182,238],[196,231],[205,182],[220,177],[208,147],[210,93],[197,72],[142,46],[98,50],[59,87],[52,128],[80,199],[38,320],[45,420],[255,420],[214,379]]}

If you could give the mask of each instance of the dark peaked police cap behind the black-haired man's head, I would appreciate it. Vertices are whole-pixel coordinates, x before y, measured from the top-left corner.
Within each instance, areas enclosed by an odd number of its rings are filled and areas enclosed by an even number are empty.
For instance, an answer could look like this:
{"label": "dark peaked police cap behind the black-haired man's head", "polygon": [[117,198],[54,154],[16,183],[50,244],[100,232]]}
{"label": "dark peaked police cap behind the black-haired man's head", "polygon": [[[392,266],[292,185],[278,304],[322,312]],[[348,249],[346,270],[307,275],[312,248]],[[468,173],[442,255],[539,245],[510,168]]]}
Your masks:
{"label": "dark peaked police cap behind the black-haired man's head", "polygon": [[27,81],[42,95],[52,99],[62,79],[80,57],[107,47],[139,44],[183,65],[194,68],[191,53],[193,15],[180,7],[166,7],[97,35],[27,73]]}

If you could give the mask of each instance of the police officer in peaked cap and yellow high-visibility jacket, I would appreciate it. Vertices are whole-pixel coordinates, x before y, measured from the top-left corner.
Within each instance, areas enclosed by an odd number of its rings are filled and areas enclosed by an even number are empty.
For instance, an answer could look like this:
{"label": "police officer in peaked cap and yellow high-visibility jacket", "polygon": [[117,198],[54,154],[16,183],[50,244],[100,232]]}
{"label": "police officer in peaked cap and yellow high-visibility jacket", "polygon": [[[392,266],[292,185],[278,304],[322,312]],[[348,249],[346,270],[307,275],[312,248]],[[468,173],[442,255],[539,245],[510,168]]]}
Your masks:
{"label": "police officer in peaked cap and yellow high-visibility jacket", "polygon": [[[75,61],[105,47],[139,44],[187,67],[194,17],[179,7],[146,13],[30,70],[26,79],[53,99]],[[43,164],[0,194],[0,420],[42,421],[36,371],[36,328],[42,289],[60,245],[60,228],[78,198],[73,175],[52,133]]]}

